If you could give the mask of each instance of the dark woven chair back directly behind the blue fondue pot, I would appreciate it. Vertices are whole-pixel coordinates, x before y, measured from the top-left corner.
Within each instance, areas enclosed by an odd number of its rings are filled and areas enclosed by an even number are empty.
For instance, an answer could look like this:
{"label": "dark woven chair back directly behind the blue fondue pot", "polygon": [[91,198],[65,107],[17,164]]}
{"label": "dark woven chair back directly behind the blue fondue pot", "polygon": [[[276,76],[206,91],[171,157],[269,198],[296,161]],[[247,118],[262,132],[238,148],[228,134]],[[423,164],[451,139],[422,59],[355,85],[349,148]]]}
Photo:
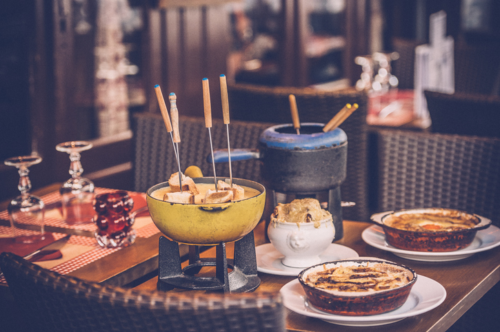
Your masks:
{"label": "dark woven chair back directly behind the blue fondue pot", "polygon": [[348,136],[347,176],[341,185],[341,196],[344,201],[356,203],[343,209],[342,216],[348,220],[368,220],[368,96],[365,93],[233,84],[228,87],[228,94],[232,118],[270,123],[292,122],[289,94],[297,99],[301,123],[328,123],[346,103],[357,103],[359,109],[340,126]]}

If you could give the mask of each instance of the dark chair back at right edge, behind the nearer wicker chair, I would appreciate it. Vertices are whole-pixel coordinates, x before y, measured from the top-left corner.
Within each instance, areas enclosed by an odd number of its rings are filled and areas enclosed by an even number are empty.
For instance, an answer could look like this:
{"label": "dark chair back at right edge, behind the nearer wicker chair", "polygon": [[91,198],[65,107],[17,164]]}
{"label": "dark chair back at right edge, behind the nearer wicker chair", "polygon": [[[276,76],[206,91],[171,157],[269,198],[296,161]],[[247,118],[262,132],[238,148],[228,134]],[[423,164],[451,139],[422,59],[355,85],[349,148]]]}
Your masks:
{"label": "dark chair back at right edge, behind the nearer wicker chair", "polygon": [[432,132],[500,138],[500,96],[424,91]]}

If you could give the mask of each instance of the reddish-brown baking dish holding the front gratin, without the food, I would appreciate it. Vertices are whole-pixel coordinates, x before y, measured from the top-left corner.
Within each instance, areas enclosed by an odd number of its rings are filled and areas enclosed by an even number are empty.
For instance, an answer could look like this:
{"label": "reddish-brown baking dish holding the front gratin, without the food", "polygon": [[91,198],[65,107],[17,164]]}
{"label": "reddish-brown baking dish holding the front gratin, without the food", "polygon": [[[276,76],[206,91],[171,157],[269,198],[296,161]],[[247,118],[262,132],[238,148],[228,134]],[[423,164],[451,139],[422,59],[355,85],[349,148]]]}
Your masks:
{"label": "reddish-brown baking dish holding the front gratin, without the food", "polygon": [[[367,264],[372,266],[378,263],[388,264],[390,267],[403,271],[410,278],[410,282],[397,288],[377,291],[332,291],[314,287],[306,282],[306,278],[310,273],[322,269],[351,266],[366,267]],[[308,301],[314,308],[334,315],[361,316],[386,313],[401,307],[408,300],[410,291],[417,281],[417,273],[404,265],[394,262],[378,260],[377,258],[361,258],[317,264],[301,271],[298,278]]]}

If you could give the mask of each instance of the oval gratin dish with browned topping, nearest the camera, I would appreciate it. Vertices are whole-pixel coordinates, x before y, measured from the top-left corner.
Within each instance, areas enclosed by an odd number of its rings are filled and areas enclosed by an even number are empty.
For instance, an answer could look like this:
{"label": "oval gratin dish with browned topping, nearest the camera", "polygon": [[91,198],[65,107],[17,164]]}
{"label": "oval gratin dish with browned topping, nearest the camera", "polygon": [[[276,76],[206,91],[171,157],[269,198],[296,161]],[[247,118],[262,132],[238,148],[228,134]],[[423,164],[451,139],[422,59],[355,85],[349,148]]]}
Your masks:
{"label": "oval gratin dish with browned topping, nearest the camera", "polygon": [[306,297],[316,309],[336,315],[377,315],[401,307],[417,273],[376,258],[317,264],[299,274]]}

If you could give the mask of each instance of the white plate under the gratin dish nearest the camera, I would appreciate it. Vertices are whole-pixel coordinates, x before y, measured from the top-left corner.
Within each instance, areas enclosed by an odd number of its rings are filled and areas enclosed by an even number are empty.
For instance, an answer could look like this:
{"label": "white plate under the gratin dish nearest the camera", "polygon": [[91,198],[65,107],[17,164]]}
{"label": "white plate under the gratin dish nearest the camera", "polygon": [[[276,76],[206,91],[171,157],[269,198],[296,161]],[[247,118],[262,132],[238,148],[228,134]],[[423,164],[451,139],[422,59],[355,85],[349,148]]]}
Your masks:
{"label": "white plate under the gratin dish nearest the camera", "polygon": [[417,276],[417,281],[410,291],[408,300],[394,311],[379,315],[344,316],[324,313],[309,304],[299,280],[293,280],[281,287],[279,291],[283,298],[283,305],[312,318],[319,318],[325,322],[345,326],[377,326],[390,324],[404,318],[420,315],[439,306],[446,299],[446,290],[439,282],[424,276]]}

